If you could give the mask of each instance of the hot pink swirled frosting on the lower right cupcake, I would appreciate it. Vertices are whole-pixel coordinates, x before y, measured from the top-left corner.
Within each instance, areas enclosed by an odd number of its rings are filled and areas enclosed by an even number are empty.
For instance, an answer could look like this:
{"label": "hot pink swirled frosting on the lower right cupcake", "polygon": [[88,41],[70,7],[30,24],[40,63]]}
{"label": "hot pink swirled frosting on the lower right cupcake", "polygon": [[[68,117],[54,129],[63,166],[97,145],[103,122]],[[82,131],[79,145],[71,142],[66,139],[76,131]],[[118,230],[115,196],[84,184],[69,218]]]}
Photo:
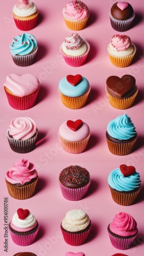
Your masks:
{"label": "hot pink swirled frosting on the lower right cupcake", "polygon": [[109,228],[113,233],[118,234],[118,236],[127,237],[137,232],[137,223],[130,214],[119,212],[113,218]]}

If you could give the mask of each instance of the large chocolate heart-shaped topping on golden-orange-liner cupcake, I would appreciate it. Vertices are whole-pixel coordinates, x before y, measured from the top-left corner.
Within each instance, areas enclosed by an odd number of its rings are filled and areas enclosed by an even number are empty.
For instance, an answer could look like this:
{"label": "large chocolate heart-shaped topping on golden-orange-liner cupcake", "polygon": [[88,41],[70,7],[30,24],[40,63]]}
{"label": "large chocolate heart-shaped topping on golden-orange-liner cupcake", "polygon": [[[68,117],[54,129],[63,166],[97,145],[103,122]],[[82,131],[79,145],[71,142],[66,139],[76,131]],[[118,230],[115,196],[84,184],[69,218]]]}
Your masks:
{"label": "large chocolate heart-shaped topping on golden-orange-liner cupcake", "polygon": [[109,76],[106,81],[108,92],[121,99],[122,97],[129,96],[129,94],[134,93],[135,78],[131,75],[124,75],[121,78],[118,76]]}

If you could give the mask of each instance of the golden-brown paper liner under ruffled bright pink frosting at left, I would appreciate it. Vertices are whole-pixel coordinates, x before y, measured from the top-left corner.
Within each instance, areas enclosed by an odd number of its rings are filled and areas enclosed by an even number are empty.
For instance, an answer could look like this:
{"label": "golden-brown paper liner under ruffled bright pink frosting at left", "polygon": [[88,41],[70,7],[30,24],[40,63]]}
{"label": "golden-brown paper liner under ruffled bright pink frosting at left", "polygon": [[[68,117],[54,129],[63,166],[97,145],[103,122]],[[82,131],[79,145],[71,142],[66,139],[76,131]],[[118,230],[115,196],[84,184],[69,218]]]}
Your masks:
{"label": "golden-brown paper liner under ruffled bright pink frosting at left", "polygon": [[6,180],[9,195],[18,200],[31,198],[35,194],[38,177],[32,183],[22,186],[15,186]]}

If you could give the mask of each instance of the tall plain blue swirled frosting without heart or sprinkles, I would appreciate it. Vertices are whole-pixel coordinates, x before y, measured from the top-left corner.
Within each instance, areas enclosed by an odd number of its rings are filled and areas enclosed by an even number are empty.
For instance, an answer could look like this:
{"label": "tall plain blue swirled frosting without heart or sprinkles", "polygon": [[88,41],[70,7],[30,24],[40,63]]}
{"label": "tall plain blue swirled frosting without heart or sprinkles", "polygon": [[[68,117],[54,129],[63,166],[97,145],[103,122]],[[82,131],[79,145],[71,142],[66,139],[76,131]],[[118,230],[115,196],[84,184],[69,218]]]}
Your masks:
{"label": "tall plain blue swirled frosting without heart or sprinkles", "polygon": [[118,140],[128,140],[137,134],[131,118],[126,114],[111,120],[108,123],[107,132],[112,138]]}

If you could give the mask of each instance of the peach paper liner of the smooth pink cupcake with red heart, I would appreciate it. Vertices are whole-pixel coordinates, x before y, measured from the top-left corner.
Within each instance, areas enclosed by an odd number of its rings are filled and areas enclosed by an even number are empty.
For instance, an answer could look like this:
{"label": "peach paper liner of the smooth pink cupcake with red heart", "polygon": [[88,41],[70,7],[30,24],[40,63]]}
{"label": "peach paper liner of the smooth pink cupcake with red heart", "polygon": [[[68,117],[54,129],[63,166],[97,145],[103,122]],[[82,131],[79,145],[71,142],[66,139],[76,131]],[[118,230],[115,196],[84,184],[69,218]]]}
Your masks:
{"label": "peach paper liner of the smooth pink cupcake with red heart", "polygon": [[90,133],[89,135],[80,141],[68,141],[63,139],[59,134],[58,134],[58,138],[60,140],[60,143],[63,147],[63,150],[71,153],[71,154],[80,154],[82,152],[84,152],[86,150],[88,141],[89,141],[89,137],[90,137]]}

